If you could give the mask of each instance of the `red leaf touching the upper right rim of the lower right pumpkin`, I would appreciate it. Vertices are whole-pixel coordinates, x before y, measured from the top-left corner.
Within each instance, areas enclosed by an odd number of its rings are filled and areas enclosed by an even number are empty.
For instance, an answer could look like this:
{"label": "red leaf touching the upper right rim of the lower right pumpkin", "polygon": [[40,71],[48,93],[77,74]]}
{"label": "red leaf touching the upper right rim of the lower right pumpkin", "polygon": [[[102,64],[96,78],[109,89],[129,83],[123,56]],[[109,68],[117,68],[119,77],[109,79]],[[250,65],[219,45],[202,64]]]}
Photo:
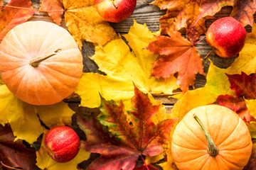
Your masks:
{"label": "red leaf touching the upper right rim of the lower right pumpkin", "polygon": [[255,121],[256,119],[250,115],[248,108],[245,103],[245,99],[238,96],[231,95],[220,95],[216,99],[216,103],[220,106],[225,106],[226,108],[230,108],[230,110],[238,113],[239,117],[242,120],[247,122]]}

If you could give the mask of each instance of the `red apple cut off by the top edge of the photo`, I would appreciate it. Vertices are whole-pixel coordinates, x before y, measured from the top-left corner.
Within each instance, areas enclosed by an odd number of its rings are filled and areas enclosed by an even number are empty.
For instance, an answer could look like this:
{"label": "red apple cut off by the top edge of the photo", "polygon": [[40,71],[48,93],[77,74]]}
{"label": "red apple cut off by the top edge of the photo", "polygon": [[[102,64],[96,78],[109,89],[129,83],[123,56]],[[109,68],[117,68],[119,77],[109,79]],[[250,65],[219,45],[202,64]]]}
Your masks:
{"label": "red apple cut off by the top edge of the photo", "polygon": [[95,7],[106,21],[118,23],[132,15],[137,0],[95,0]]}

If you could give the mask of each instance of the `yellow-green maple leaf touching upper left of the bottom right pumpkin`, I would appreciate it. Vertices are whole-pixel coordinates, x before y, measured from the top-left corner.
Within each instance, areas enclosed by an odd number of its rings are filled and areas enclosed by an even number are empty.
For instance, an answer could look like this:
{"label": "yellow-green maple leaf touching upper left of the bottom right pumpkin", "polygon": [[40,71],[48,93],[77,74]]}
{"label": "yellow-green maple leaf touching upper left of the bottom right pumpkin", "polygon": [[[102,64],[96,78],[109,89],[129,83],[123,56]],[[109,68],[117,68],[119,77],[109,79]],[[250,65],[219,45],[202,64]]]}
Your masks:
{"label": "yellow-green maple leaf touching upper left of the bottom right pumpkin", "polygon": [[192,108],[213,103],[220,94],[234,95],[234,92],[230,89],[225,69],[215,67],[211,62],[206,77],[206,86],[187,91],[183,96],[177,96],[178,102],[171,110],[172,118],[181,118]]}

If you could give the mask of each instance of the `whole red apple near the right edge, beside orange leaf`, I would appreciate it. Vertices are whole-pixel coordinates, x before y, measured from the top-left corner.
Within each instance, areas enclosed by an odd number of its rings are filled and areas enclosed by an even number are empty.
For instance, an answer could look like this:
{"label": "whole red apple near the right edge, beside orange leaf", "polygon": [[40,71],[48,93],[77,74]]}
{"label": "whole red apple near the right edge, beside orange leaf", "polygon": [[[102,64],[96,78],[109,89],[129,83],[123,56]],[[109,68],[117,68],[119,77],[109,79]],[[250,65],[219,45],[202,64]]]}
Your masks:
{"label": "whole red apple near the right edge, beside orange leaf", "polygon": [[214,21],[207,30],[206,41],[216,55],[233,57],[245,45],[246,30],[242,23],[232,17]]}

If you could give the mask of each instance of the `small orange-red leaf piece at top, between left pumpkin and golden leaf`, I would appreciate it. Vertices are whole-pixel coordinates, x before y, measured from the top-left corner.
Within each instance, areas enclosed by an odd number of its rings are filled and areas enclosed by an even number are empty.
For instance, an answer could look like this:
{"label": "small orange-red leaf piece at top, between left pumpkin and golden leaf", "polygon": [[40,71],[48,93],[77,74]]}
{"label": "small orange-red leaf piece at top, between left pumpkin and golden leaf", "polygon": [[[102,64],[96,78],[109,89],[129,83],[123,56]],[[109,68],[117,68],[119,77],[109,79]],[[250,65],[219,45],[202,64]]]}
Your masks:
{"label": "small orange-red leaf piece at top, between left pumpkin and golden leaf", "polygon": [[64,12],[63,0],[43,0],[39,10],[48,11],[50,18],[60,26]]}

